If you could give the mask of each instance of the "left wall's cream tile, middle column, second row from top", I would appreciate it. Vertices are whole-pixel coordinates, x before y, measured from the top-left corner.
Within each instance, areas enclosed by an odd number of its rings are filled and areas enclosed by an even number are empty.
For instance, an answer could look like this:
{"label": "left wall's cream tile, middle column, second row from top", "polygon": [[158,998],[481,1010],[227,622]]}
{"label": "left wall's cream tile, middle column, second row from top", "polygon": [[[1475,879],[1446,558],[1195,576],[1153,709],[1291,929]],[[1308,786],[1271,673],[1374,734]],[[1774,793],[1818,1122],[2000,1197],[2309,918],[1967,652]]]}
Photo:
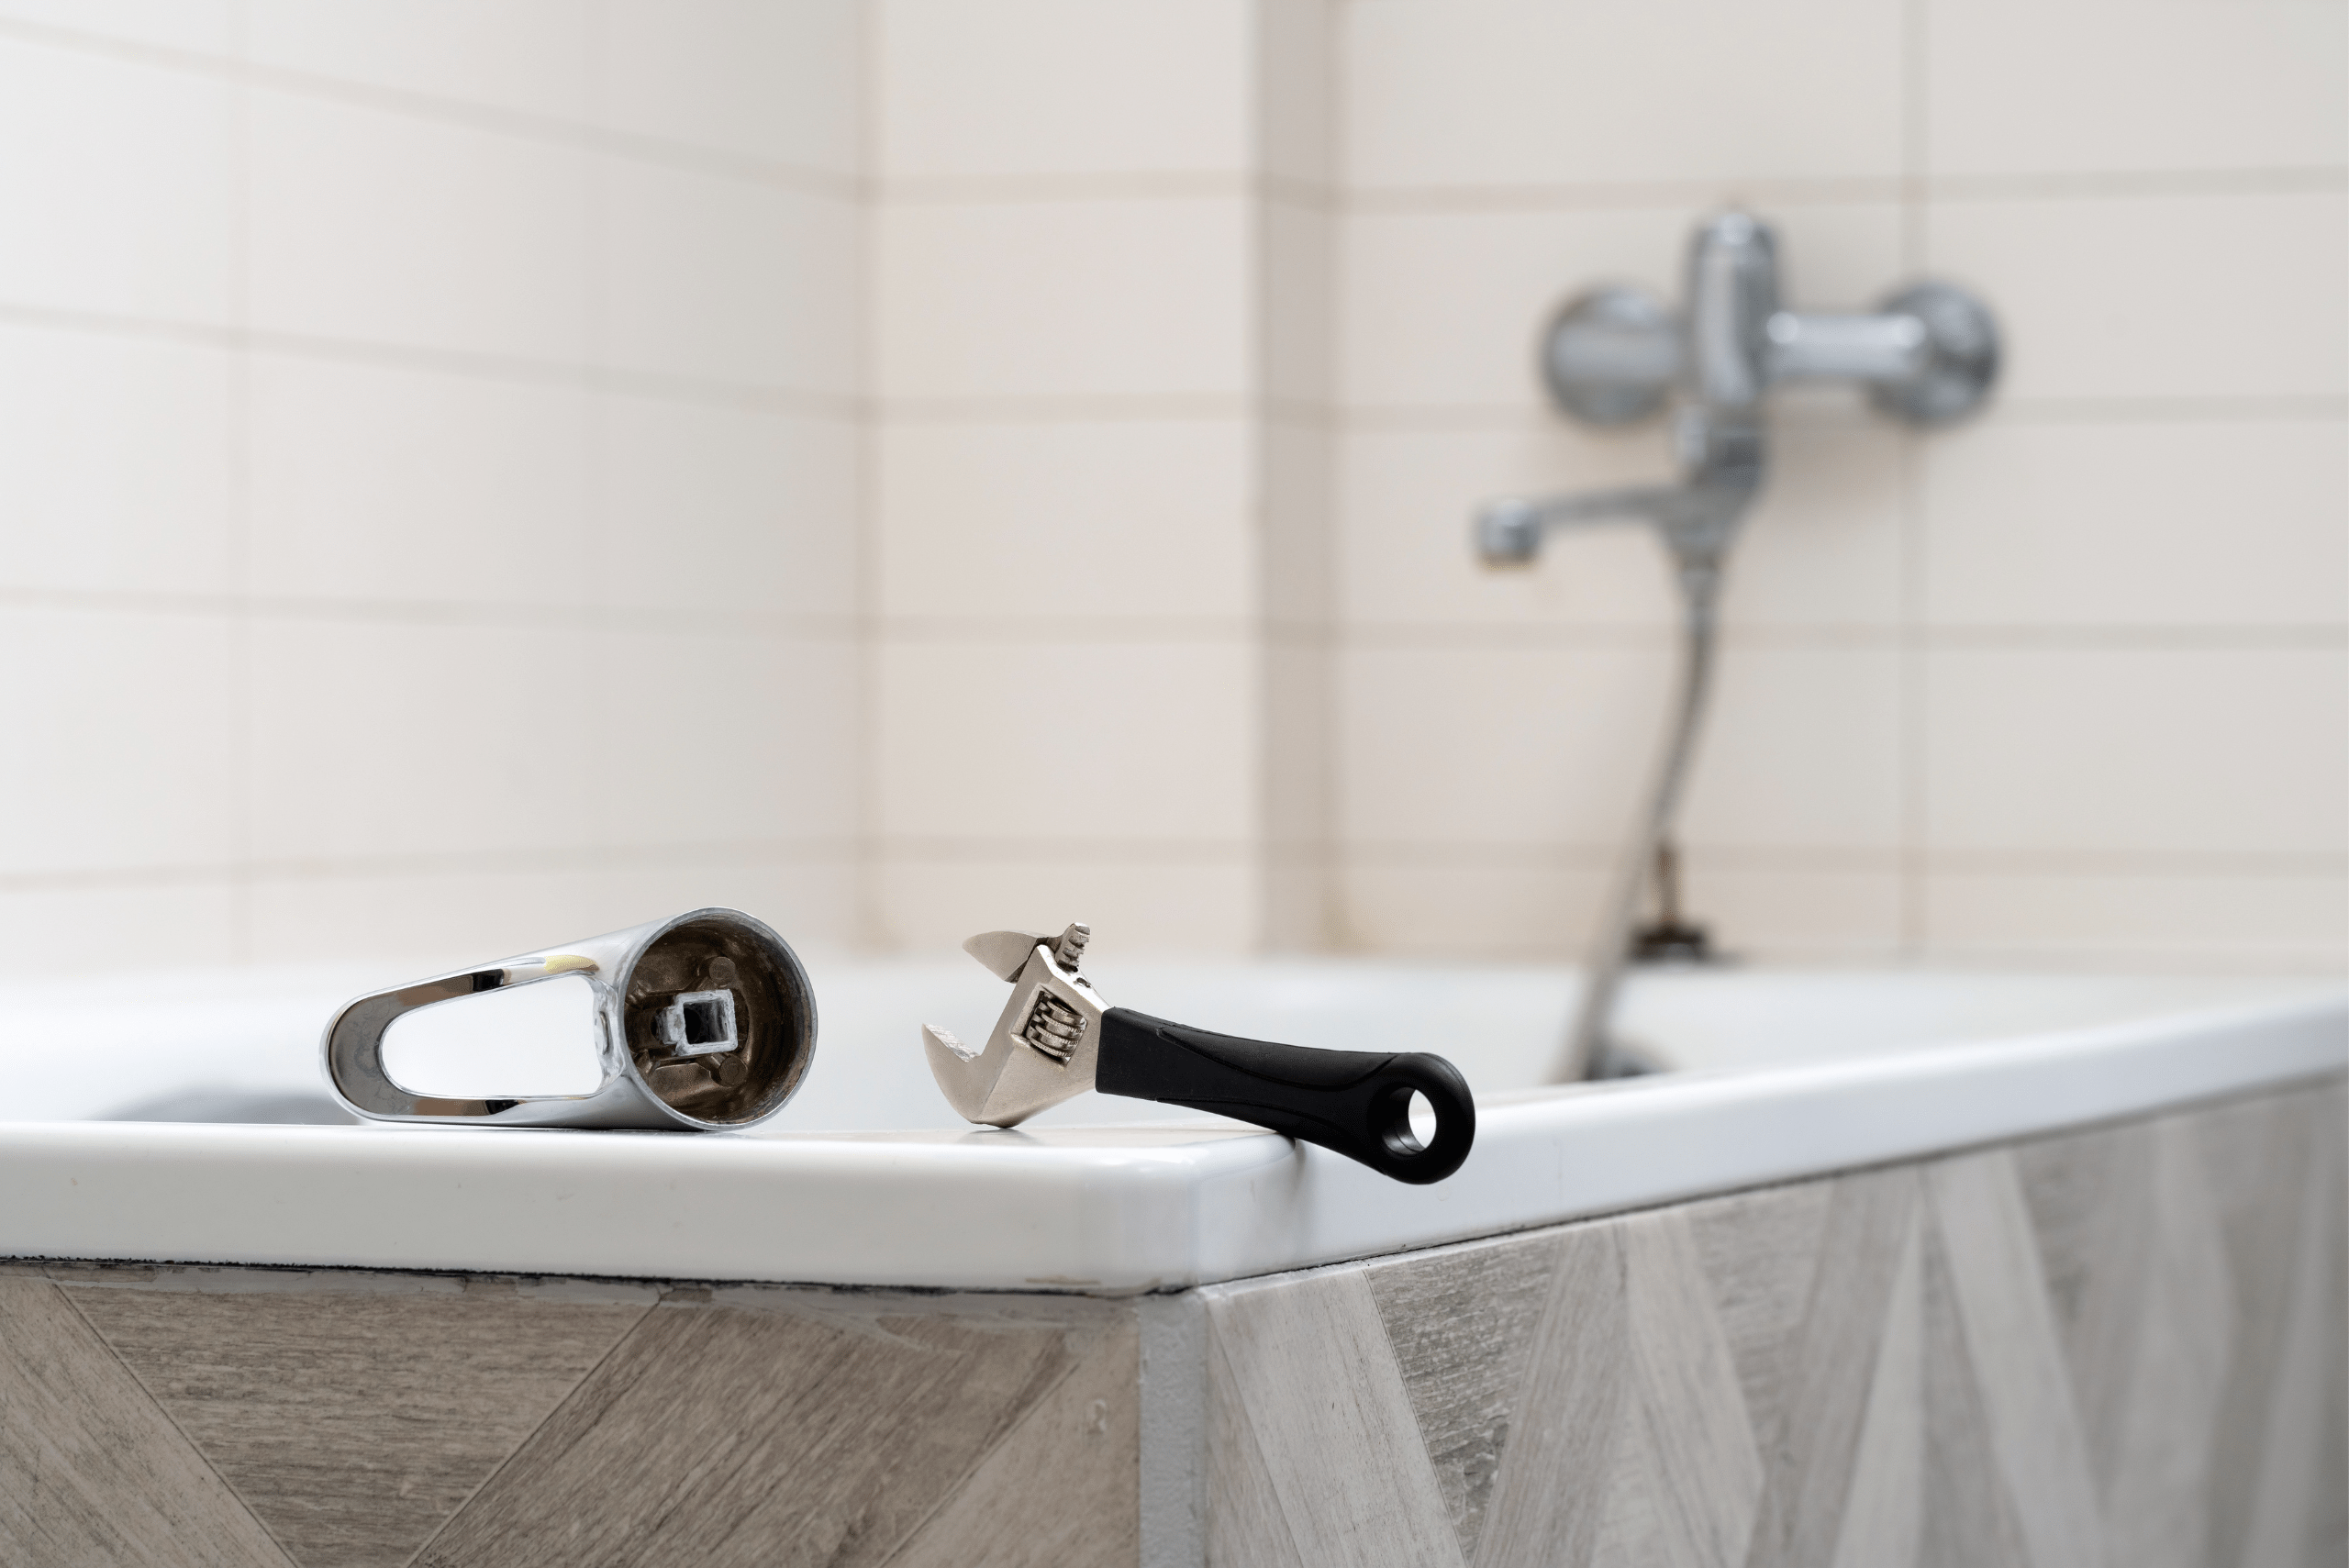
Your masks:
{"label": "left wall's cream tile, middle column, second row from top", "polygon": [[254,326],[585,359],[587,153],[277,92],[249,134]]}

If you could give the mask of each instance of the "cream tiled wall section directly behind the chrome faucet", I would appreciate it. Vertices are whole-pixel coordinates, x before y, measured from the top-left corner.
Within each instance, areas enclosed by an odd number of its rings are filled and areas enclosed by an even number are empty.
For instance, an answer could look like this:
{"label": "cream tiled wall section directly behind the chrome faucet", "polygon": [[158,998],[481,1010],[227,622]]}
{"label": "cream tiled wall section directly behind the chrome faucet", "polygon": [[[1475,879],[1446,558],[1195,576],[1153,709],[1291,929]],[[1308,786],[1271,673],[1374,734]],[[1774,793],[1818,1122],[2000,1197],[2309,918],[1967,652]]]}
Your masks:
{"label": "cream tiled wall section directly behind the chrome faucet", "polygon": [[1485,575],[1480,495],[1665,474],[1541,401],[1543,317],[1677,293],[1729,202],[1790,293],[1931,272],[1987,418],[1783,399],[1687,812],[1757,955],[2337,965],[2349,951],[2344,7],[1348,0],[1334,512],[1339,934],[1579,944],[1647,768],[1665,577]]}

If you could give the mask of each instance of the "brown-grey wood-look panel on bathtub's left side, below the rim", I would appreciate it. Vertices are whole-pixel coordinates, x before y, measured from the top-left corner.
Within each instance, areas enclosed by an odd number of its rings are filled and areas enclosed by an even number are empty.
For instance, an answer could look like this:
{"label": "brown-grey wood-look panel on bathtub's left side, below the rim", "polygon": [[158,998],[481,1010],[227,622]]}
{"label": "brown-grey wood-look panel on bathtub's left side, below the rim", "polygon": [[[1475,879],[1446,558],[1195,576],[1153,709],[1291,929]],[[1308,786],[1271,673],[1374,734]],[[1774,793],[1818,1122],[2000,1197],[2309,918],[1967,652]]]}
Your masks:
{"label": "brown-grey wood-look panel on bathtub's left side, below the rim", "polygon": [[1132,1563],[1137,1359],[1064,1296],[0,1272],[0,1563]]}

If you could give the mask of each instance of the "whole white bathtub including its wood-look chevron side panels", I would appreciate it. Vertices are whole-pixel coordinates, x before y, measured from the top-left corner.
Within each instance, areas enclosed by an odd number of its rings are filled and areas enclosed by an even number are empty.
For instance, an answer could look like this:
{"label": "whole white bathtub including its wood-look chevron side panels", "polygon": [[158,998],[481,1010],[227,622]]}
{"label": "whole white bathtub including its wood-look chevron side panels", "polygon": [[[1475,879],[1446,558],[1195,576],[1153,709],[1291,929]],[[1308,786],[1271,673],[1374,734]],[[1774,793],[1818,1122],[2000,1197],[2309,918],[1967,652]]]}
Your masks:
{"label": "whole white bathtub including its wood-look chevron side panels", "polygon": [[[2342,1561],[2337,984],[1640,974],[1668,1070],[1548,1089],[1562,972],[1092,967],[1449,1054],[1478,1145],[1407,1188],[1092,1096],[958,1127],[916,1026],[1003,986],[810,967],[756,1136],[327,1122],[319,1026],[406,972],[9,988],[0,1556]],[[561,1091],[580,1040],[395,1068]]]}

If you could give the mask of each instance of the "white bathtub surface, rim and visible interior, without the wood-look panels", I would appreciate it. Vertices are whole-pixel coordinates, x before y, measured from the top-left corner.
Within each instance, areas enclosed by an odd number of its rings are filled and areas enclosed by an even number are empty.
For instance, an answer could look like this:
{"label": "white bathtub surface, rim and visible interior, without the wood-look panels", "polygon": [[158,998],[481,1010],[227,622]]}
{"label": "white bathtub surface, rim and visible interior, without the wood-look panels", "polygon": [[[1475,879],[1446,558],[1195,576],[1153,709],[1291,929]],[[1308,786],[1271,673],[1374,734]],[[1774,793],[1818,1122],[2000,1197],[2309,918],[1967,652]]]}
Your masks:
{"label": "white bathtub surface, rim and visible interior, without the wood-look panels", "polygon": [[[1003,986],[968,962],[810,969],[815,1070],[754,1136],[284,1124],[327,1113],[317,1030],[334,1007],[406,974],[0,991],[0,1256],[1128,1291],[2349,1068],[2349,988],[2335,981],[1712,972],[1633,986],[1626,1038],[1680,1070],[1541,1089],[1571,1002],[1564,972],[1099,967],[1113,1002],[1189,1023],[1452,1056],[1478,1087],[1475,1155],[1445,1183],[1405,1188],[1233,1122],[1102,1096],[1019,1131],[961,1127],[916,1023],[982,1033]],[[416,1087],[559,1091],[585,1038],[561,988],[543,995],[536,1021],[477,1012],[486,1030],[446,1028],[470,1002],[442,1009],[437,1038],[395,1035],[392,1059]]]}

